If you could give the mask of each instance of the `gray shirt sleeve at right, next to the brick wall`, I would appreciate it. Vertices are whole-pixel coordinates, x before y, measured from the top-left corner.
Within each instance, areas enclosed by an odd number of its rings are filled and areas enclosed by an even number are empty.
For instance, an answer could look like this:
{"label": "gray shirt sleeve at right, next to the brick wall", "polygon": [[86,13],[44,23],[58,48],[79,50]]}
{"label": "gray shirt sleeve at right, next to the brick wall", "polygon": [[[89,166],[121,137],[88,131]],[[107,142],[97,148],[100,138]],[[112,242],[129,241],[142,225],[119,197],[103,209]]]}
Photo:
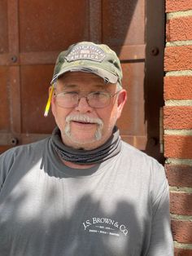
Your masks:
{"label": "gray shirt sleeve at right, next to the brick wall", "polygon": [[151,180],[152,225],[147,256],[173,256],[169,189],[164,167],[154,162]]}

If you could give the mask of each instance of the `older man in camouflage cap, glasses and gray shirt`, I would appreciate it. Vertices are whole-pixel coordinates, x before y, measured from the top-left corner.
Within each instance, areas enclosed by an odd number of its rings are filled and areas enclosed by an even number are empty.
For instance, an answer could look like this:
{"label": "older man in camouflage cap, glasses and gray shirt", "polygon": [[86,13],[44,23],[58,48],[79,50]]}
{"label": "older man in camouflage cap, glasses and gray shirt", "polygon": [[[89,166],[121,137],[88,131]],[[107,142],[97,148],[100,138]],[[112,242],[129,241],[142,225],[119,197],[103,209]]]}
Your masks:
{"label": "older man in camouflage cap, glasses and gray shirt", "polygon": [[121,79],[108,46],[60,53],[53,134],[0,157],[0,255],[173,255],[164,168],[116,127]]}

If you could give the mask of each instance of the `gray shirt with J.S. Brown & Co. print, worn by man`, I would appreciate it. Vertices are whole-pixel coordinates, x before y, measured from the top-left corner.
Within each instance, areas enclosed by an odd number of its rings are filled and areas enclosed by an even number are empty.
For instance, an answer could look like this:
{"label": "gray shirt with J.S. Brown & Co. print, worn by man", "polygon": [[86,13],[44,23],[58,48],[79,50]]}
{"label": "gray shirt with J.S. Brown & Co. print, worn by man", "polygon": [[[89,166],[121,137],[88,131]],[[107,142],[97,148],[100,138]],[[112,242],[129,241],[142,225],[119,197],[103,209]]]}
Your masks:
{"label": "gray shirt with J.S. Brown & Co. print, worn by man", "polygon": [[50,138],[0,156],[0,255],[172,256],[163,166],[122,144],[86,170],[64,166]]}

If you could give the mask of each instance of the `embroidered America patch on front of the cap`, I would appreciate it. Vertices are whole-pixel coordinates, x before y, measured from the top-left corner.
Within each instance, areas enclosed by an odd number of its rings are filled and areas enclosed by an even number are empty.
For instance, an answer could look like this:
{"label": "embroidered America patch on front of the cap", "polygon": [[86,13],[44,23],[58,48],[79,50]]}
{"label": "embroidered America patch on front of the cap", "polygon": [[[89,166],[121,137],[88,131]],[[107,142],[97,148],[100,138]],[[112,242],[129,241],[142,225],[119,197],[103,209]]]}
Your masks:
{"label": "embroidered America patch on front of the cap", "polygon": [[78,45],[74,46],[72,51],[65,57],[69,62],[74,60],[94,60],[102,62],[105,58],[104,51],[98,46]]}

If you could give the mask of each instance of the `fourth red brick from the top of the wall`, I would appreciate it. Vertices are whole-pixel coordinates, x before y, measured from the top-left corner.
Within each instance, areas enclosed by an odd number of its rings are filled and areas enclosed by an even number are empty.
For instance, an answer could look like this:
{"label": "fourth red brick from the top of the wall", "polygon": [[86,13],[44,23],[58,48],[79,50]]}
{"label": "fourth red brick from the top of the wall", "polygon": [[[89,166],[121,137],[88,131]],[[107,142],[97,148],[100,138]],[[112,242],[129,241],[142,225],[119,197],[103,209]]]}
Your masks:
{"label": "fourth red brick from the top of the wall", "polygon": [[164,99],[192,99],[192,76],[164,77]]}

